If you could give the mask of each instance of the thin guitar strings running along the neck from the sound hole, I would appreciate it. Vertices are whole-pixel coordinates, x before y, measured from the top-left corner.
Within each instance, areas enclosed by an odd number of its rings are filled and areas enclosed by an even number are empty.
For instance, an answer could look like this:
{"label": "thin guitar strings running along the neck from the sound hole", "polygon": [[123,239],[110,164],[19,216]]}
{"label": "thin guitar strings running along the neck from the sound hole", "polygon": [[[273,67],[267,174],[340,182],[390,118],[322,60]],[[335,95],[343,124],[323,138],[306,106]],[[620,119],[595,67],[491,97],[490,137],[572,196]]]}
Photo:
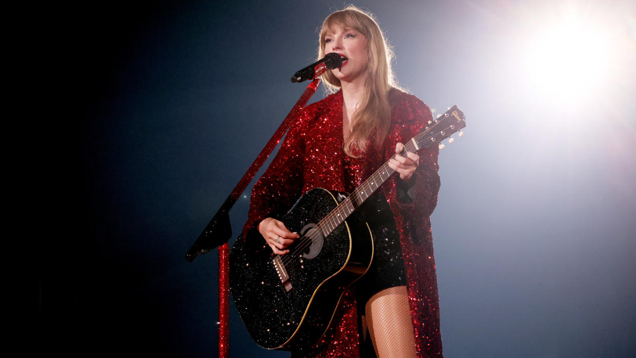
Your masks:
{"label": "thin guitar strings running along the neck from the sound hole", "polygon": [[[440,122],[438,122],[437,120],[434,121],[430,127],[427,127],[426,130],[420,134],[418,134],[417,136],[415,136],[414,138],[419,141],[421,137],[423,137],[425,134],[428,134],[429,132],[432,131],[432,129],[434,129]],[[443,132],[447,129],[451,129],[453,126],[449,126],[446,127],[446,129],[443,129],[440,132]],[[427,140],[431,139],[432,136],[430,138],[427,138]],[[410,152],[411,150],[416,149],[415,145],[413,144],[413,141],[408,141],[406,145],[404,145],[404,148],[401,152],[401,154],[404,154],[404,152]],[[417,152],[417,150],[415,150],[414,152]],[[396,157],[396,154],[394,154],[391,159],[394,159]],[[319,236],[323,236],[322,235],[322,227],[326,226],[326,224],[334,224],[336,222],[338,222],[338,218],[336,218],[335,216],[337,216],[335,214],[336,211],[338,211],[340,208],[347,206],[347,204],[350,204],[352,207],[351,208],[347,208],[349,210],[349,213],[347,215],[345,215],[342,218],[342,222],[345,221],[345,219],[347,217],[349,217],[349,215],[351,215],[351,213],[353,213],[353,211],[355,211],[356,209],[353,207],[353,199],[356,199],[356,196],[360,195],[360,194],[364,194],[364,187],[365,185],[370,182],[371,179],[375,178],[375,182],[377,182],[377,178],[379,176],[380,180],[383,180],[384,184],[384,179],[382,178],[382,175],[380,174],[381,171],[387,172],[389,173],[389,177],[391,177],[394,173],[396,173],[393,169],[391,169],[388,166],[388,161],[385,162],[384,164],[382,164],[382,166],[380,166],[380,168],[378,168],[377,171],[375,171],[367,180],[364,181],[364,183],[362,185],[360,185],[359,187],[357,187],[356,189],[353,190],[353,192],[347,196],[345,199],[343,199],[343,201],[341,201],[340,203],[338,203],[338,205],[336,206],[336,208],[334,210],[332,210],[331,212],[329,212],[326,217],[322,218],[322,220],[320,220],[318,222],[318,224],[316,224],[316,226],[312,227],[312,229],[310,229],[308,235],[303,235],[301,238],[299,238],[298,240],[298,245],[296,245],[296,247],[294,248],[293,252],[289,252],[288,254],[282,255],[280,261],[282,262],[282,264],[289,264],[289,262],[293,261],[294,259],[296,259],[296,257],[300,257],[300,255],[302,255],[305,250],[310,247],[310,245],[312,245],[314,243],[314,240],[316,238],[318,238]],[[392,171],[392,173],[391,173]],[[387,178],[388,180],[388,178]],[[373,187],[371,187],[370,185],[368,185],[368,187],[371,189],[371,194],[373,194],[373,192],[375,192],[375,190],[379,189],[380,186],[382,185],[376,185],[376,189],[373,189]],[[365,194],[366,195],[366,194]],[[369,195],[370,196],[370,195]],[[367,196],[367,198],[369,197]],[[362,197],[362,196],[361,196]],[[364,202],[365,199],[362,199],[361,203],[362,204]],[[356,200],[357,203],[357,200]],[[333,231],[335,231],[335,229],[340,226],[342,224],[342,222],[340,222],[338,225],[335,225],[333,230],[331,230],[331,233],[333,233]],[[331,234],[329,233],[329,234]],[[300,254],[298,253],[300,252]]]}

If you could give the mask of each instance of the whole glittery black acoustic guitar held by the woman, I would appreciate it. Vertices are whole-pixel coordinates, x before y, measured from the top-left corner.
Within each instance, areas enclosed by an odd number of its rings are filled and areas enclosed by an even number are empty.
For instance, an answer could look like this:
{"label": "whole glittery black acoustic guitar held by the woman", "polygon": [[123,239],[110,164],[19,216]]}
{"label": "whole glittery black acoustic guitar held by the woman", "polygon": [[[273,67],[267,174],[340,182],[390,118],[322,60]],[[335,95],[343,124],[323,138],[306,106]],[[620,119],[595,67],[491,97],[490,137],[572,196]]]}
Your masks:
{"label": "whole glittery black acoustic guitar held by the woman", "polygon": [[[442,147],[442,140],[464,127],[464,113],[453,106],[411,138],[402,154]],[[235,241],[230,290],[258,345],[292,350],[322,338],[342,294],[364,275],[373,257],[369,226],[352,214],[394,173],[385,163],[350,195],[313,189],[301,196],[277,218],[300,234],[286,255],[273,255],[258,231]]]}

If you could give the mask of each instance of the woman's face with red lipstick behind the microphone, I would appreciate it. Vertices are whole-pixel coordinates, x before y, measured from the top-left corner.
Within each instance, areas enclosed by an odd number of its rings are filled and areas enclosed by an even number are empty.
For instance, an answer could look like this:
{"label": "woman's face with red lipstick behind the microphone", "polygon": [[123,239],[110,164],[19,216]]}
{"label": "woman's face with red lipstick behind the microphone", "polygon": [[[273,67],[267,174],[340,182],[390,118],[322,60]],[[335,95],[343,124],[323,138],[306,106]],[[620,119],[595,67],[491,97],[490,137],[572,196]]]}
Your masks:
{"label": "woman's face with red lipstick behind the microphone", "polygon": [[366,37],[354,29],[336,25],[325,34],[324,42],[325,54],[336,52],[347,57],[347,61],[343,61],[340,68],[331,70],[333,75],[340,82],[364,83],[367,74]]}

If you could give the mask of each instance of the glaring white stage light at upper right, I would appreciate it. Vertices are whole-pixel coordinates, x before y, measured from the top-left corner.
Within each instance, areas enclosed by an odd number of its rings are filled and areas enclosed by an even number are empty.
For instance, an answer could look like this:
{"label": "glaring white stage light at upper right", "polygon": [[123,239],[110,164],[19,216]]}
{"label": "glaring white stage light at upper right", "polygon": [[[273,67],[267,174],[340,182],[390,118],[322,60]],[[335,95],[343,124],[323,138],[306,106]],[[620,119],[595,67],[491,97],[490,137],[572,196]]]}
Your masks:
{"label": "glaring white stage light at upper right", "polygon": [[533,90],[559,101],[598,91],[611,66],[611,31],[574,14],[537,26],[525,51]]}

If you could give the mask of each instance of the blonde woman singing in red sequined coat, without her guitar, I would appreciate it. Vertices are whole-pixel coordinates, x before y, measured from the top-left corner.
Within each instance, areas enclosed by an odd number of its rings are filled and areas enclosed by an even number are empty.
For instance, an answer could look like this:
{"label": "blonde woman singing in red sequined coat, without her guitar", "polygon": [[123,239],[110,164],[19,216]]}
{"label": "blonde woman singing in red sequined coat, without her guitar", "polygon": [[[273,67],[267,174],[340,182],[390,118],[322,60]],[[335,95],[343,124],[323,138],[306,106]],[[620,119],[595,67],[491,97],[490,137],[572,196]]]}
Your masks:
{"label": "blonde woman singing in red sequined coat, without her guitar", "polygon": [[[392,52],[373,17],[353,6],[324,20],[318,58],[347,60],[322,76],[331,89],[305,108],[254,185],[245,231],[275,254],[299,238],[273,212],[315,187],[352,192],[432,120],[420,99],[397,89]],[[359,211],[371,227],[371,267],[341,301],[326,334],[292,356],[441,356],[437,278],[429,217],[439,190],[438,150],[396,155],[397,171]]]}

